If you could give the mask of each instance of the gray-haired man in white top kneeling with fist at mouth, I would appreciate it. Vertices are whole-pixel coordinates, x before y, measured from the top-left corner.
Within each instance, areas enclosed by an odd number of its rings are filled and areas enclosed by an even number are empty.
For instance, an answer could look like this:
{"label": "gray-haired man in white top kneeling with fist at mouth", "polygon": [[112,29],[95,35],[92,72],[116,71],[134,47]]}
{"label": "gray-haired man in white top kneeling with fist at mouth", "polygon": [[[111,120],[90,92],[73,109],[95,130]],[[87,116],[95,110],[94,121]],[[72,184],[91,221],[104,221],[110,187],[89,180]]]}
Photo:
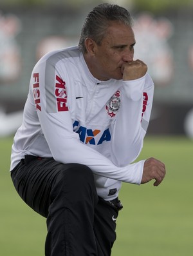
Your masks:
{"label": "gray-haired man in white top kneeling with fist at mouth", "polygon": [[129,12],[96,6],[79,46],[35,65],[11,174],[23,200],[47,218],[46,255],[111,255],[121,182],[165,176],[162,162],[132,162],[142,150],[154,84],[133,60]]}

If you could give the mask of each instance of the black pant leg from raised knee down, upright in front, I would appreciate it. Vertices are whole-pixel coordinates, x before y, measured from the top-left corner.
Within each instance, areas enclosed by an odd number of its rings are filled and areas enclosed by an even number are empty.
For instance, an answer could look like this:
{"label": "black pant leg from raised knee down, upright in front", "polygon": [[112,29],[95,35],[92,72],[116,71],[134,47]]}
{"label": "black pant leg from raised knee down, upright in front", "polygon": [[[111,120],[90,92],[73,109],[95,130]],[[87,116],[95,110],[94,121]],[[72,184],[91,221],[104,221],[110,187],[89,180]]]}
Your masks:
{"label": "black pant leg from raised knee down, upright in front", "polygon": [[[98,201],[93,173],[84,166],[61,172],[50,194],[46,256],[96,256],[93,231]],[[51,246],[50,246],[51,244]]]}

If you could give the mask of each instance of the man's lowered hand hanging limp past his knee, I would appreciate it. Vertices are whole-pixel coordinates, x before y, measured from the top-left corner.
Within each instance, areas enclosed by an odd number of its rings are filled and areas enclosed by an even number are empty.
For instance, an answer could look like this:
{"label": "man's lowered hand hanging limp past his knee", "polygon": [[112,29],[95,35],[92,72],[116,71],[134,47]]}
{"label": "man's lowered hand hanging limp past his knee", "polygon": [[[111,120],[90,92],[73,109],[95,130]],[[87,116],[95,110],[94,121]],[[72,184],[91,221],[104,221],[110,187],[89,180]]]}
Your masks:
{"label": "man's lowered hand hanging limp past his knee", "polygon": [[154,186],[158,186],[165,177],[165,164],[153,157],[147,159],[143,166],[142,184],[155,179]]}

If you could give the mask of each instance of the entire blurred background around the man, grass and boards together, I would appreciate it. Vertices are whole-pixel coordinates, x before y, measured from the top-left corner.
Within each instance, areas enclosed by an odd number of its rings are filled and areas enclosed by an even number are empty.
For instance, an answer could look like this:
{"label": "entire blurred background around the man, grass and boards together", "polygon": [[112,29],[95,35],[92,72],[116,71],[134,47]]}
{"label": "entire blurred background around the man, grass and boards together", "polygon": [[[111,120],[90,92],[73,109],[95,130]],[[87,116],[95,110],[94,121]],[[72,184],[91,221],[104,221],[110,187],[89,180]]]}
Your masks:
{"label": "entire blurred background around the man, grass and boards together", "polygon": [[0,1],[0,255],[44,255],[46,220],[24,204],[10,179],[13,135],[35,63],[46,52],[77,44],[87,13],[103,2],[131,11],[135,58],[148,64],[155,83],[138,160],[154,156],[167,167],[158,188],[153,181],[123,184],[112,256],[192,255],[192,0]]}

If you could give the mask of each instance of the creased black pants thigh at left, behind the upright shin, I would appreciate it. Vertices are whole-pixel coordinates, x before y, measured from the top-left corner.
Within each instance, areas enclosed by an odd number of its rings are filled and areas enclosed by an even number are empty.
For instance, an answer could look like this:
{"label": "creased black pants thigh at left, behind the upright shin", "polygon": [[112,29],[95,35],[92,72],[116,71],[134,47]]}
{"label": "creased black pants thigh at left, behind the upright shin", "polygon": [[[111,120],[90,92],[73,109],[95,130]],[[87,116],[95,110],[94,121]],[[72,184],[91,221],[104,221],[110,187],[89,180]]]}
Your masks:
{"label": "creased black pants thigh at left, behind the upright shin", "polygon": [[60,169],[53,159],[27,155],[12,170],[15,189],[28,206],[43,217],[48,216],[50,192]]}

